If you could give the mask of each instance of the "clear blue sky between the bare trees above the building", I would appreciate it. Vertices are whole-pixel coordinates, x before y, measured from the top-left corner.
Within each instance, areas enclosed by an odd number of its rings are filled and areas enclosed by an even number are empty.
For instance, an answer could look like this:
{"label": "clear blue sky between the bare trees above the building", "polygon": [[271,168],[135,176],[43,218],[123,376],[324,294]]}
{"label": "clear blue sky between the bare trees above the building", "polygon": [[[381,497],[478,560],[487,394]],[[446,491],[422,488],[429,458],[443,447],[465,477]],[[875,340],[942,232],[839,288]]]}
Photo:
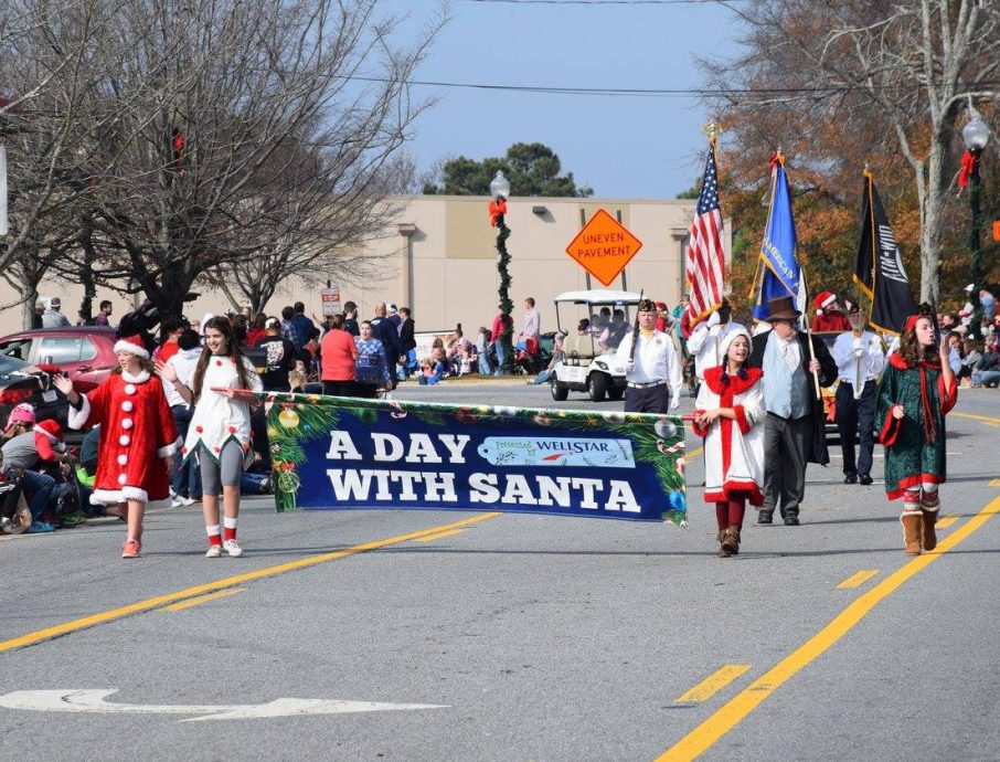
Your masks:
{"label": "clear blue sky between the bare trees above the building", "polygon": [[[389,0],[415,25],[434,0]],[[422,10],[425,9],[425,10]],[[416,77],[555,87],[688,88],[702,85],[694,55],[724,53],[735,22],[722,6],[450,3]],[[730,43],[731,44],[731,43]],[[413,128],[419,170],[449,155],[501,156],[513,142],[543,142],[563,171],[596,197],[673,198],[703,167],[693,96],[621,97],[416,87],[439,103]]]}

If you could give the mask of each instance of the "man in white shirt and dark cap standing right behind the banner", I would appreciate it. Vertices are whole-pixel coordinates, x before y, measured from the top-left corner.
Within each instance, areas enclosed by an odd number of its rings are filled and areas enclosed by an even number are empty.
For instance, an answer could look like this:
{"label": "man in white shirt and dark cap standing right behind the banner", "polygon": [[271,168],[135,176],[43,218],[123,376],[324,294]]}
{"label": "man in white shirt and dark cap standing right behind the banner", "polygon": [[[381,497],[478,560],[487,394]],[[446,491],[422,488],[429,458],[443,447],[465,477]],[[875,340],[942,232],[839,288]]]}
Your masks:
{"label": "man in white shirt and dark cap standing right behind the banner", "polygon": [[652,299],[642,299],[637,309],[637,330],[626,334],[616,352],[617,361],[626,368],[625,412],[663,415],[668,403],[670,410],[681,404],[681,364],[673,341],[656,329],[657,306]]}

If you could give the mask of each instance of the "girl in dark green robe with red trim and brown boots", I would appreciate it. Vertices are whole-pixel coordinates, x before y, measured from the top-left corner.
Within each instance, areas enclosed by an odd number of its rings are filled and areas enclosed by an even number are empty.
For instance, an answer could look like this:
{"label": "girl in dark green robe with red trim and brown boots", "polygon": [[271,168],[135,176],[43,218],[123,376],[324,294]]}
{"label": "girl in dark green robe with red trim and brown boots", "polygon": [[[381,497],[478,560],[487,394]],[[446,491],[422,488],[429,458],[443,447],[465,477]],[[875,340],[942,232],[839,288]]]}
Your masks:
{"label": "girl in dark green robe with red trim and brown boots", "polygon": [[933,318],[913,315],[879,384],[876,421],[885,446],[885,491],[903,498],[905,550],[934,550],[938,485],[945,483],[945,414],[955,406],[958,385],[948,364],[948,340],[934,342]]}

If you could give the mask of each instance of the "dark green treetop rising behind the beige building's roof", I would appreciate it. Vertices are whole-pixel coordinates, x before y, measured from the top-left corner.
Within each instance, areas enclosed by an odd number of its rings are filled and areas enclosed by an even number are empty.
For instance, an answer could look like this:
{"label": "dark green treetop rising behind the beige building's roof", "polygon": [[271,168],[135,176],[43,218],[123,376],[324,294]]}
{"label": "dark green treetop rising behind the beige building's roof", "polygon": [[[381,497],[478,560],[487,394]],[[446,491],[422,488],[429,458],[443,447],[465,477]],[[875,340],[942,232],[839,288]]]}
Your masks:
{"label": "dark green treetop rising behind the beige building's roof", "polygon": [[577,187],[573,172],[561,176],[562,162],[541,142],[515,142],[503,157],[482,161],[459,156],[442,167],[437,182],[424,186],[424,193],[444,195],[489,195],[490,181],[502,170],[512,195],[578,197],[594,195],[593,188]]}

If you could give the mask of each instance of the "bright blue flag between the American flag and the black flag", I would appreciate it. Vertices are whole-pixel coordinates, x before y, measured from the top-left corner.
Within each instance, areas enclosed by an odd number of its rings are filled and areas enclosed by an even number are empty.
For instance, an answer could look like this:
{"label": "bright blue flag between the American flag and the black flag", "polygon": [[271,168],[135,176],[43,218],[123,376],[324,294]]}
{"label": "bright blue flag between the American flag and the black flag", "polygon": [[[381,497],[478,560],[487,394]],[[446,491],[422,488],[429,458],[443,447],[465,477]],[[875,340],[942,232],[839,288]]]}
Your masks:
{"label": "bright blue flag between the American flag and the black flag", "polygon": [[796,308],[804,311],[805,285],[798,261],[795,258],[795,218],[791,214],[791,192],[785,165],[778,158],[770,173],[770,212],[767,230],[760,243],[759,290],[754,305],[754,317],[766,320],[769,316],[767,303],[779,296],[790,296]]}

